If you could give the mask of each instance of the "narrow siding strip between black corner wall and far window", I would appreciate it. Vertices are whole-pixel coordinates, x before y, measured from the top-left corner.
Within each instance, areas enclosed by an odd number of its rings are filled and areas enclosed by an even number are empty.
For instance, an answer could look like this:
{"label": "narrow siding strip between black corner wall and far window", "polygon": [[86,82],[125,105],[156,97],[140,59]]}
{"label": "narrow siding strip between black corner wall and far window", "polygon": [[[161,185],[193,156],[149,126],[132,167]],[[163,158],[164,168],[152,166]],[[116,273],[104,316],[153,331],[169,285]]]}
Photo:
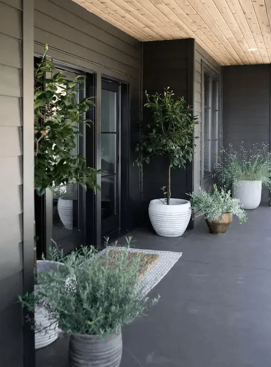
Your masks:
{"label": "narrow siding strip between black corner wall and far window", "polygon": [[[220,65],[203,50],[203,48],[196,42],[195,49],[195,74],[194,74],[194,114],[198,118],[198,125],[195,127],[196,148],[194,155],[194,190],[198,191],[200,186],[204,185],[203,172],[202,172],[202,61],[210,66],[218,74],[221,74]],[[208,183],[206,188],[209,188],[211,182]]]}

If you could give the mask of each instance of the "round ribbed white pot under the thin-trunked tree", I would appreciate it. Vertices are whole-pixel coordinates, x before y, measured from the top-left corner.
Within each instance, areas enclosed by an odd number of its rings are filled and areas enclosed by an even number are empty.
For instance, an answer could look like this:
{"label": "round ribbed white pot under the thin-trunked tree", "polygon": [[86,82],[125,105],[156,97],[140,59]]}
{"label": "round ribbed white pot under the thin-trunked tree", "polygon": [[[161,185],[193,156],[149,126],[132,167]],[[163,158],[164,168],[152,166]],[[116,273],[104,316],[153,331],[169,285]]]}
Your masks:
{"label": "round ribbed white pot under the thin-trunked tree", "polygon": [[181,236],[191,218],[191,205],[187,200],[155,199],[149,204],[149,216],[155,232],[163,237]]}

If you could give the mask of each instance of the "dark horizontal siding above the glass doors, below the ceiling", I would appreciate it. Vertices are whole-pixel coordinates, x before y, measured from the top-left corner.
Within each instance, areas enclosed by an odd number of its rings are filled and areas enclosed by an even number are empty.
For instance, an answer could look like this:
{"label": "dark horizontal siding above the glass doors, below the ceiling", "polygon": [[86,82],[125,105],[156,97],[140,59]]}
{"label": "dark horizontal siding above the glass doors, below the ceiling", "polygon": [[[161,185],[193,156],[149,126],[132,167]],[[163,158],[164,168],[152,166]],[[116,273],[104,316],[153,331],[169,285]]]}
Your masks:
{"label": "dark horizontal siding above the glass doors, below the ceiling", "polygon": [[[34,39],[38,45],[138,79],[140,42],[127,37],[72,1],[35,0]],[[99,20],[99,22],[98,22]],[[63,56],[63,59],[66,59]]]}

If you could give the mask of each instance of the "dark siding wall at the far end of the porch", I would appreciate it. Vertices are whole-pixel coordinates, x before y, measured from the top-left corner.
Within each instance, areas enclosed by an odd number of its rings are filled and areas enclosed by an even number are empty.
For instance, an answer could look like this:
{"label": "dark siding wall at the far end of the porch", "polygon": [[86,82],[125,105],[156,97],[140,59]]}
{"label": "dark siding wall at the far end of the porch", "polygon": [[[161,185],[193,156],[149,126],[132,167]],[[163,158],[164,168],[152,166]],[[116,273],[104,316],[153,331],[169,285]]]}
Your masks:
{"label": "dark siding wall at the far end of the porch", "polygon": [[[223,145],[270,144],[271,65],[223,67]],[[262,204],[269,193],[263,191]]]}

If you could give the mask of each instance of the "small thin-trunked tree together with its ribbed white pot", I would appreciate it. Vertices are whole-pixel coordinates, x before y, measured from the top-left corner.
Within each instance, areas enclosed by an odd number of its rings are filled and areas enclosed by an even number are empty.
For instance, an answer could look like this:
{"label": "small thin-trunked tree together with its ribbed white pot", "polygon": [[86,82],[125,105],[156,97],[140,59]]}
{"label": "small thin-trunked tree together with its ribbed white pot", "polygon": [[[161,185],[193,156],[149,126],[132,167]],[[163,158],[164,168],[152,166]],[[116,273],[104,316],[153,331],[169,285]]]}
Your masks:
{"label": "small thin-trunked tree together with its ribbed white pot", "polygon": [[145,92],[145,96],[144,106],[152,111],[152,120],[143,126],[142,138],[136,145],[140,156],[134,164],[149,163],[154,156],[167,157],[166,199],[152,200],[149,216],[158,235],[177,237],[183,234],[189,223],[191,207],[187,200],[171,199],[171,169],[185,167],[192,161],[197,119],[184,98],[175,97],[169,87],[162,94]]}

